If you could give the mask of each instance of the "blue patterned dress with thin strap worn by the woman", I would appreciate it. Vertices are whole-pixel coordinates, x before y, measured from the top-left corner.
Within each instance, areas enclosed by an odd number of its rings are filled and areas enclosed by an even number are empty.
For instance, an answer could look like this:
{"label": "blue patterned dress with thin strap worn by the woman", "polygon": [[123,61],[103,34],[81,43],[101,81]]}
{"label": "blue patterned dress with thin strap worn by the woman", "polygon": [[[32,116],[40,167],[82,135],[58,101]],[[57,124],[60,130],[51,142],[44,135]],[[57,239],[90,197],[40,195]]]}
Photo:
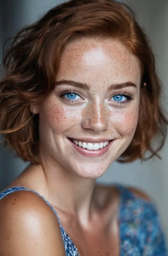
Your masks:
{"label": "blue patterned dress with thin strap worn by the woman", "polygon": [[[116,185],[120,191],[119,227],[120,256],[167,256],[164,234],[158,213],[153,203],[137,198],[124,186]],[[0,199],[15,191],[26,190],[43,196],[24,187],[9,188],[0,193]],[[62,227],[57,212],[45,200],[57,216],[67,256],[80,256],[78,249]],[[111,252],[112,255],[112,252]],[[81,255],[82,256],[82,255]]]}

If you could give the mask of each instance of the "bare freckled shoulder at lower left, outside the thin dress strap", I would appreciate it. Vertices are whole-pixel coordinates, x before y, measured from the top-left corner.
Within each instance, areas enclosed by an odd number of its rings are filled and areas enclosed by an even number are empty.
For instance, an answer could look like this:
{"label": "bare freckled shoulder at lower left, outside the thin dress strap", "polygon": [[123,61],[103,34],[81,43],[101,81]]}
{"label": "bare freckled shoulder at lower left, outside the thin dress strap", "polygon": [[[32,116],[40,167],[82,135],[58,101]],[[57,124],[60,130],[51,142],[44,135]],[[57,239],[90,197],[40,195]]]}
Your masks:
{"label": "bare freckled shoulder at lower left, outside the thin dress strap", "polygon": [[0,255],[65,255],[53,210],[35,193],[17,191],[0,200]]}

